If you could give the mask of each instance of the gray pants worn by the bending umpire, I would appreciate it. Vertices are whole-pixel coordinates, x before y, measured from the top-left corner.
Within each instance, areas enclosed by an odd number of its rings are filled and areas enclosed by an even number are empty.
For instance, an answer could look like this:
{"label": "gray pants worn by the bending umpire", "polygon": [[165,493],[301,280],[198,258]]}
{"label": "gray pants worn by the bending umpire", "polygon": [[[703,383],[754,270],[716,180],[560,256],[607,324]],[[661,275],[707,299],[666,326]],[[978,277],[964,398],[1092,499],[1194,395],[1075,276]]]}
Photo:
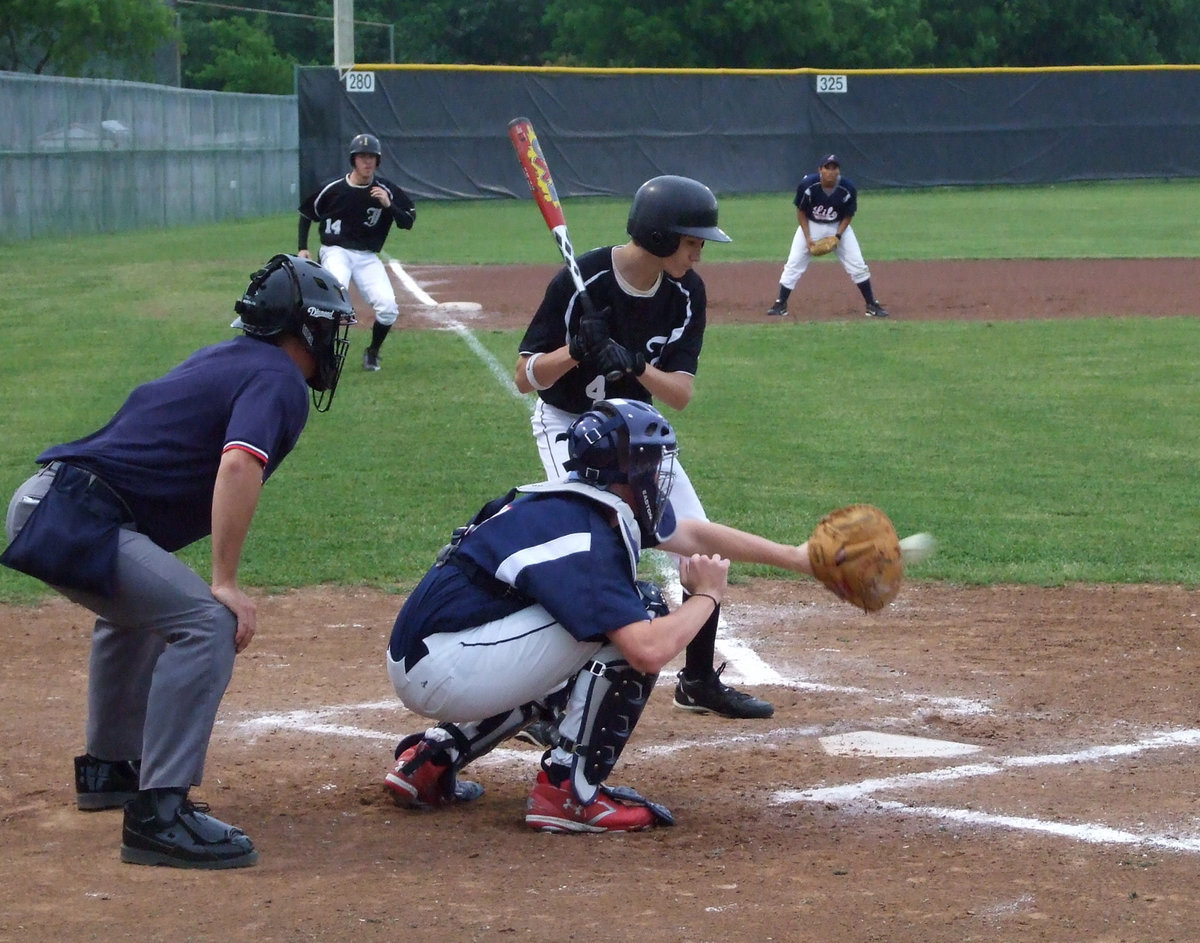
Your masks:
{"label": "gray pants worn by the bending umpire", "polygon": [[[8,505],[8,540],[54,479],[43,469]],[[143,789],[198,785],[217,708],[233,677],[238,619],[174,554],[121,528],[112,599],[54,587],[96,613],[88,679],[86,749],[142,759]]]}

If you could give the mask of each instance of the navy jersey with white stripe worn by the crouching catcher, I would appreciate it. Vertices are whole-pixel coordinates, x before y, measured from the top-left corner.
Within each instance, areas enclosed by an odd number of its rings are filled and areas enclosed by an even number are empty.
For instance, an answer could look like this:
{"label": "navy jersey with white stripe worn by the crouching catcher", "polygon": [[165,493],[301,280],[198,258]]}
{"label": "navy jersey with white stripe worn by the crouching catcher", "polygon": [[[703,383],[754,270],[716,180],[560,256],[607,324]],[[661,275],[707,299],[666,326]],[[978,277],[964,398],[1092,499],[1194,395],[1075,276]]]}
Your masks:
{"label": "navy jersey with white stripe worn by the crouching catcher", "polygon": [[[620,499],[562,482],[522,492],[463,537],[456,555],[468,560],[467,571],[454,563],[433,566],[413,590],[392,629],[392,661],[419,651],[431,635],[472,629],[534,602],[580,641],[646,619],[635,584],[637,525],[629,513],[612,523]],[[660,533],[673,528],[668,505]],[[498,585],[482,585],[479,573],[517,593],[503,596]]]}

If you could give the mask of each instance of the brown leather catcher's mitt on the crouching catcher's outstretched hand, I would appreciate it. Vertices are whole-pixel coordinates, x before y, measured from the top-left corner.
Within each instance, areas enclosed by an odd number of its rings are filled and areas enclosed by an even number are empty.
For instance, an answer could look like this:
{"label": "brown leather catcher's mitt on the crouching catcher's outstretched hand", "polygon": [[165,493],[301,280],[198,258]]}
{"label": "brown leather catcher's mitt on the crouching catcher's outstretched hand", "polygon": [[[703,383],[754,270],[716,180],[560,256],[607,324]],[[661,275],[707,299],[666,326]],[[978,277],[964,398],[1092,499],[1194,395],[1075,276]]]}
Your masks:
{"label": "brown leather catcher's mitt on the crouching catcher's outstretched hand", "polygon": [[900,537],[878,507],[851,504],[822,518],[809,537],[812,575],[865,612],[882,609],[900,591]]}

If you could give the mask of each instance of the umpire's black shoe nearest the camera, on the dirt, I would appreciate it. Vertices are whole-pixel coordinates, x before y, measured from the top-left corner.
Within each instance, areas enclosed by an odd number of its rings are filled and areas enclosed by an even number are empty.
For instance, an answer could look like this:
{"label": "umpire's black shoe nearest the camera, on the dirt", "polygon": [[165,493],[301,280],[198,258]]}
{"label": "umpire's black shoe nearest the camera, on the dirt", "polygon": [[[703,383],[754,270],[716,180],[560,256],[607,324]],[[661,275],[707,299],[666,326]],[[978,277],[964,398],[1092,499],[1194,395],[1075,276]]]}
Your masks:
{"label": "umpire's black shoe nearest the camera, on the dirt", "polygon": [[121,860],[168,867],[250,867],[254,843],[240,828],[208,815],[186,789],[143,789],[125,806]]}

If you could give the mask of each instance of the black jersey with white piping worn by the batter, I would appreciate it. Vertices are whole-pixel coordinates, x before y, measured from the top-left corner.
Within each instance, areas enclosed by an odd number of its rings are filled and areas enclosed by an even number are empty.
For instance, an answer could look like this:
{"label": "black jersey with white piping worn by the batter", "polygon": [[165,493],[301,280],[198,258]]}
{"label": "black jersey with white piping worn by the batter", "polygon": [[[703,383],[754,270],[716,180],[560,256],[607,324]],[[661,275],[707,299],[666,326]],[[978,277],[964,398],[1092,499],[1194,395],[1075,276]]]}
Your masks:
{"label": "black jersey with white piping worn by the batter", "polygon": [[[580,271],[588,296],[599,311],[611,307],[608,319],[612,338],[629,350],[641,350],[647,364],[668,373],[696,374],[700,348],[704,343],[704,319],[708,299],[704,282],[694,271],[683,278],[666,272],[652,295],[628,294],[617,282],[612,266],[612,246],[594,248],[580,257]],[[570,271],[563,269],[546,288],[546,295],[521,338],[521,354],[550,353],[568,343],[580,323],[578,293]],[[622,377],[607,383],[602,374],[581,364],[538,396],[568,413],[586,413],[599,400],[652,401],[649,391],[636,377]]]}

